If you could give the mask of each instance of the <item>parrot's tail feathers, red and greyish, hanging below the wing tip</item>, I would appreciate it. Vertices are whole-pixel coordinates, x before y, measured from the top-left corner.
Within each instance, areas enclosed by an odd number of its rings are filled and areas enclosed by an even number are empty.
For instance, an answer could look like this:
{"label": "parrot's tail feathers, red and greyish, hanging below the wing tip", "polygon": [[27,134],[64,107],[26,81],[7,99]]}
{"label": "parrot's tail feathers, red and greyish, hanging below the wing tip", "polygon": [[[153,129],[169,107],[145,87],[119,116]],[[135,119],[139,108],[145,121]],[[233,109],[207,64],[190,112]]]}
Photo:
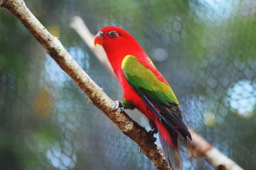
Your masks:
{"label": "parrot's tail feathers, red and greyish, hanging below the wing tip", "polygon": [[166,129],[163,130],[163,127],[159,127],[159,131],[159,139],[168,164],[170,164],[174,170],[182,170],[182,159],[180,157],[179,144],[177,143],[177,132],[174,130],[168,132]]}

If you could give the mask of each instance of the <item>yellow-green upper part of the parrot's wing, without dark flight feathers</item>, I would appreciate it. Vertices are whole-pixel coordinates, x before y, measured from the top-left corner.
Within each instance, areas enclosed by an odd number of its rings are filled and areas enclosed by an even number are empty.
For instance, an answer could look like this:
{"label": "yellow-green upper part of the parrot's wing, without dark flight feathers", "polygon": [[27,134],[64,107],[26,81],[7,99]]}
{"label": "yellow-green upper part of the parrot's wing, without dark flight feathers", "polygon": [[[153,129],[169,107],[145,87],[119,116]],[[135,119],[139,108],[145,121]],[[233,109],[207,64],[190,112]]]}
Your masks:
{"label": "yellow-green upper part of the parrot's wing, without dark flight feathers", "polygon": [[155,102],[166,106],[170,106],[170,104],[179,105],[170,86],[159,81],[156,75],[150,69],[145,68],[134,56],[125,56],[122,61],[122,69],[131,86],[140,89]]}

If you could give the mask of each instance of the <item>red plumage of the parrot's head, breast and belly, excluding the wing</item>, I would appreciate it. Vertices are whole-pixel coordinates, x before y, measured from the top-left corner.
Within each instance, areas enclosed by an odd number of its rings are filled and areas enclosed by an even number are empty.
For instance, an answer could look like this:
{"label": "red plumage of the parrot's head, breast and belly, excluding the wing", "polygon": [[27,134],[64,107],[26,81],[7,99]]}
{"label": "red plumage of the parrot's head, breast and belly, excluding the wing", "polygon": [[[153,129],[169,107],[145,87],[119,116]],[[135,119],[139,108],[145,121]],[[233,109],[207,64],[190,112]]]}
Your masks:
{"label": "red plumage of the parrot's head, breast and belly, excluding the wing", "polygon": [[[115,32],[113,33],[113,31]],[[127,82],[127,79],[125,79],[125,75],[122,70],[122,61],[127,55],[136,56],[138,61],[142,63],[143,66],[145,66],[145,68],[151,70],[154,73],[154,75],[156,75],[157,79],[159,79],[159,81],[164,82],[164,84],[169,86],[168,82],[166,82],[163,75],[161,75],[161,73],[158,72],[155,66],[152,65],[146,52],[141,48],[139,43],[136,42],[136,40],[124,29],[120,29],[119,27],[115,27],[115,26],[103,27],[100,30],[100,32],[95,36],[95,44],[97,43],[102,45],[102,47],[104,48],[108,56],[108,59],[109,59],[109,62],[111,63],[113,71],[115,72],[115,75],[121,84],[122,90],[124,91],[125,100],[129,100],[129,102],[131,102],[149,120],[154,121],[159,131],[159,134],[163,139],[161,141],[161,144],[163,146],[164,152],[170,155],[169,153],[170,150],[168,147],[172,148],[172,150],[174,151],[173,153],[174,157],[172,159],[175,159],[175,163],[174,163],[175,165],[172,164],[172,166],[175,166],[175,169],[182,169],[182,164],[181,164],[180,154],[179,154],[179,146],[177,143],[177,136],[178,136],[177,131],[181,129],[180,126],[175,125],[175,128],[177,129],[173,129],[173,128],[170,128],[170,126],[168,126],[166,123],[163,123],[161,120],[159,120],[159,117],[157,117],[156,112],[161,113],[161,108],[158,107],[157,105],[154,105],[154,103],[152,103],[154,109],[156,109],[154,111],[152,107],[148,106],[148,103],[145,102],[145,99],[141,98],[141,95],[138,94],[138,91],[136,91],[136,89],[134,89],[134,87],[132,87],[129,84],[129,82]],[[177,105],[175,105],[175,107],[177,107]],[[172,113],[172,111],[170,111],[170,109],[168,109],[167,107],[165,111]],[[180,114],[180,111],[179,111],[179,114]],[[184,123],[181,125],[184,125]],[[186,125],[184,125],[184,127],[186,127]],[[186,137],[186,135],[187,136],[190,135],[186,133],[185,135],[184,134],[182,135],[184,135],[184,137]],[[168,145],[166,145],[166,143]]]}

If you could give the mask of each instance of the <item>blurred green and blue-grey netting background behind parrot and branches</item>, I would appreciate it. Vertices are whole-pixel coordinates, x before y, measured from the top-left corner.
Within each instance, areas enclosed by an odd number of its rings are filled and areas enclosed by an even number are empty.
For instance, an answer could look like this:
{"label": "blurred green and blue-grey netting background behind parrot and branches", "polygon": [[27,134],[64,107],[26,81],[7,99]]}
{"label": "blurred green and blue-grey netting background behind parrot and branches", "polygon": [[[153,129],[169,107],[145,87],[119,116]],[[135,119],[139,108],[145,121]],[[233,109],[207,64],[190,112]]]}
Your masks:
{"label": "blurred green and blue-grey netting background behind parrot and branches", "polygon": [[[118,82],[70,20],[81,16],[93,34],[124,27],[170,82],[189,127],[244,169],[256,167],[256,1],[25,2],[113,100],[122,99]],[[1,169],[154,169],[4,8],[0,116]],[[181,149],[184,169],[214,169]]]}

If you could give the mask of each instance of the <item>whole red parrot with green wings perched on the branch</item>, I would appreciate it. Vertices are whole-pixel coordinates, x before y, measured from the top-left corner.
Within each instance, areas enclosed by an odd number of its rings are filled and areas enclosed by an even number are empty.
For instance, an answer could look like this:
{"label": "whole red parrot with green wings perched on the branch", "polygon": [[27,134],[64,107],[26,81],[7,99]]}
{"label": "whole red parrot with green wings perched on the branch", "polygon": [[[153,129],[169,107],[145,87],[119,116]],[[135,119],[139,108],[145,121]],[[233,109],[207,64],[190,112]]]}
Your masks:
{"label": "whole red parrot with green wings perched on the branch", "polygon": [[186,141],[192,138],[166,79],[137,40],[120,27],[102,27],[94,45],[102,45],[124,93],[123,102],[116,100],[114,110],[138,109],[144,114],[152,128],[152,142],[156,142],[154,134],[158,133],[168,164],[175,170],[182,169],[178,135]]}

